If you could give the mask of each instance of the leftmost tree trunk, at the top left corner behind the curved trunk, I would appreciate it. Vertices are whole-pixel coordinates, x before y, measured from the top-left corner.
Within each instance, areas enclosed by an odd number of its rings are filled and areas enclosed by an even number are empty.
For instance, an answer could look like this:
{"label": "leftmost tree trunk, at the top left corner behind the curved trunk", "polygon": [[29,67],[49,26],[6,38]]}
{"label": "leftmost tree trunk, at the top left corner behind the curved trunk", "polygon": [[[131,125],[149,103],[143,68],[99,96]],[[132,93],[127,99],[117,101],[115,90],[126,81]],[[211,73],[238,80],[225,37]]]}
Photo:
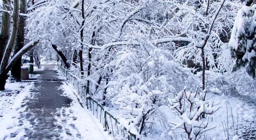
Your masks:
{"label": "leftmost tree trunk, at the top left corner behind the curved trunk", "polygon": [[[3,7],[6,7],[4,10],[10,11],[10,0],[3,0]],[[2,62],[3,53],[8,42],[9,32],[10,32],[10,14],[7,12],[2,12],[2,25],[0,31],[0,63]]]}

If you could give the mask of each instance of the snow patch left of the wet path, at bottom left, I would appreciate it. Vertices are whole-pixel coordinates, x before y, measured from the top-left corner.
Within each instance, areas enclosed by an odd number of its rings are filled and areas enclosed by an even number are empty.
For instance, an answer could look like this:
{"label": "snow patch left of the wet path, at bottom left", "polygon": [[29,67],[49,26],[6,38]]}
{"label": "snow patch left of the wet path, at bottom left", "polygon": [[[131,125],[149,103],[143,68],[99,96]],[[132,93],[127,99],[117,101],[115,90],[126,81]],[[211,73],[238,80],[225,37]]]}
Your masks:
{"label": "snow patch left of the wet path, at bottom left", "polygon": [[25,98],[31,94],[34,82],[6,83],[5,91],[0,92],[0,140],[19,140],[25,135],[25,130],[31,130],[32,125],[21,118],[25,111]]}

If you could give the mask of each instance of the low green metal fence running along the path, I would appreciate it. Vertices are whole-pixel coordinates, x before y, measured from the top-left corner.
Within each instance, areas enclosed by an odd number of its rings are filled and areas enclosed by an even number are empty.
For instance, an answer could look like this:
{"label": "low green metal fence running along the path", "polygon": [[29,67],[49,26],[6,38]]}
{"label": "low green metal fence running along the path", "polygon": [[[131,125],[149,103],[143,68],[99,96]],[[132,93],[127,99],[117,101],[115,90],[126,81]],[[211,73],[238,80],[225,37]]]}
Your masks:
{"label": "low green metal fence running along the path", "polygon": [[97,117],[103,124],[106,131],[109,132],[114,138],[126,138],[128,140],[136,140],[136,135],[126,131],[125,128],[120,127],[120,123],[109,112],[105,111],[103,105],[100,105],[92,97],[86,94],[86,87],[80,78],[75,77],[69,70],[65,69],[58,63],[58,69],[66,76],[80,97],[85,101],[87,109],[90,108],[93,115]]}

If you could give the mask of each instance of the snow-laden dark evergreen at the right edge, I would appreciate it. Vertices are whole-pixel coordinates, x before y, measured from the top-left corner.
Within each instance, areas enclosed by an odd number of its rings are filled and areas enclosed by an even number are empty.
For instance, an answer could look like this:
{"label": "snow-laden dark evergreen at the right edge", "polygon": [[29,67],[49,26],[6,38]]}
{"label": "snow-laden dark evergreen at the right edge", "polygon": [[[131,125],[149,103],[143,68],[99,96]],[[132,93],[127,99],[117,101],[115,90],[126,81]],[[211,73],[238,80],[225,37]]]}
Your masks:
{"label": "snow-laden dark evergreen at the right edge", "polygon": [[249,75],[256,77],[256,4],[247,3],[237,13],[232,29],[231,56],[236,59],[233,72],[246,67]]}

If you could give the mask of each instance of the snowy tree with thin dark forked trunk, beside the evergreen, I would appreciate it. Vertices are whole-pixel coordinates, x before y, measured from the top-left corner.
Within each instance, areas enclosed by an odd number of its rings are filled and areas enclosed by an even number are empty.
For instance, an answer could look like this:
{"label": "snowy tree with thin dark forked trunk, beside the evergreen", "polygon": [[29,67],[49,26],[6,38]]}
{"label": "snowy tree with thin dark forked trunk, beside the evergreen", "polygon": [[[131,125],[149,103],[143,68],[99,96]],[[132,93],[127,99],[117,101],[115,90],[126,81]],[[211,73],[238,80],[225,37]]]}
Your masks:
{"label": "snowy tree with thin dark forked trunk, beside the evergreen", "polygon": [[[234,18],[237,7],[231,1],[186,1],[171,3],[173,9],[172,23],[175,26],[174,37],[185,37],[180,40],[188,45],[175,50],[175,58],[180,62],[193,60],[202,68],[202,89],[205,89],[205,70],[216,70],[215,56],[217,48],[222,46],[221,35],[227,36],[229,25]],[[225,20],[223,20],[225,19]]]}

